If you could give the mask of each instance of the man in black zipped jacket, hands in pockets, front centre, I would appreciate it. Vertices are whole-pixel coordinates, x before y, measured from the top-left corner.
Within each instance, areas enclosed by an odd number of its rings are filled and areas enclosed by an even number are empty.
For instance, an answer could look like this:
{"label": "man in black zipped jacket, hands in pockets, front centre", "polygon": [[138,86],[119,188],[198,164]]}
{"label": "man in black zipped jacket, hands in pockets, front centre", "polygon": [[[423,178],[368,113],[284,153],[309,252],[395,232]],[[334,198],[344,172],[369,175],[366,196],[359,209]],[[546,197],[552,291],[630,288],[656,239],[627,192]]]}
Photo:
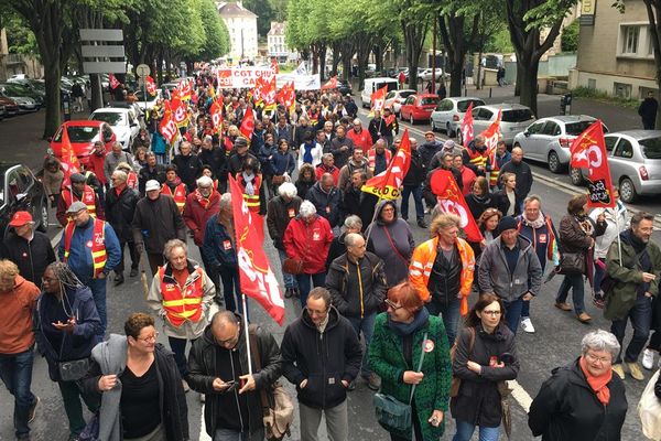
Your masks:
{"label": "man in black zipped jacket, hands in pockets, front centre", "polygon": [[282,338],[284,376],[297,390],[301,439],[317,439],[322,413],[332,440],[348,439],[347,389],[360,368],[360,342],[349,321],[315,288]]}

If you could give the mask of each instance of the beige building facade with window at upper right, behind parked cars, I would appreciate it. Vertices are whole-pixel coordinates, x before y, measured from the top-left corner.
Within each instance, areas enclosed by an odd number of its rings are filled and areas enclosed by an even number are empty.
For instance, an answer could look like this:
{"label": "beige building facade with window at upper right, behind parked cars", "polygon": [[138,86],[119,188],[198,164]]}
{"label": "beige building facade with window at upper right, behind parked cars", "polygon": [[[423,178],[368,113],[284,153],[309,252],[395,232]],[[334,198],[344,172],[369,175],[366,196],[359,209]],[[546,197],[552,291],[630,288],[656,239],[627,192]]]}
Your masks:
{"label": "beige building facade with window at upper right, behind parked cars", "polygon": [[[650,23],[642,0],[629,0],[625,13],[606,0],[584,0],[576,68],[570,87],[587,87],[621,98],[657,90]],[[592,24],[590,24],[592,22]]]}

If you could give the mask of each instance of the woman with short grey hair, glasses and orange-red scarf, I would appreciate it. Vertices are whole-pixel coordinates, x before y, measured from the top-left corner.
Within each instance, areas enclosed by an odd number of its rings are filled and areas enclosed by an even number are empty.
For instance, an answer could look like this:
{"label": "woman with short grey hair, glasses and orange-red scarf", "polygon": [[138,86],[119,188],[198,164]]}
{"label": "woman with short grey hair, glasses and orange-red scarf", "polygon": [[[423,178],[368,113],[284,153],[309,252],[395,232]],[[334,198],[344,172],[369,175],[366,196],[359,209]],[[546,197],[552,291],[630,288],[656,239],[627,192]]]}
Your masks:
{"label": "woman with short grey hair, glasses and orange-red scarf", "polygon": [[611,369],[620,345],[597,330],[581,347],[581,357],[554,369],[532,400],[528,426],[543,441],[620,440],[628,405],[625,385]]}

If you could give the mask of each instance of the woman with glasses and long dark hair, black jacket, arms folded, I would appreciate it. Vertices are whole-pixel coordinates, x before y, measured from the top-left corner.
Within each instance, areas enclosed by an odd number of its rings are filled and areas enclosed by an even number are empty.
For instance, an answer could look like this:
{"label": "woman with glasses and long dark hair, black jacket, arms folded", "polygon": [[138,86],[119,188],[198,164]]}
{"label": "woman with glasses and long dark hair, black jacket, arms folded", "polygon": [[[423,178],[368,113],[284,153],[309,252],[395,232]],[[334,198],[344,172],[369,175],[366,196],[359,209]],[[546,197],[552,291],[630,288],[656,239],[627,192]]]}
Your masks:
{"label": "woman with glasses and long dark hair, black jacket, arms folded", "polygon": [[502,419],[499,386],[519,374],[514,334],[503,323],[503,313],[497,295],[481,295],[457,338],[452,372],[460,385],[449,401],[457,426],[454,441],[470,440],[476,426],[480,440],[498,441]]}

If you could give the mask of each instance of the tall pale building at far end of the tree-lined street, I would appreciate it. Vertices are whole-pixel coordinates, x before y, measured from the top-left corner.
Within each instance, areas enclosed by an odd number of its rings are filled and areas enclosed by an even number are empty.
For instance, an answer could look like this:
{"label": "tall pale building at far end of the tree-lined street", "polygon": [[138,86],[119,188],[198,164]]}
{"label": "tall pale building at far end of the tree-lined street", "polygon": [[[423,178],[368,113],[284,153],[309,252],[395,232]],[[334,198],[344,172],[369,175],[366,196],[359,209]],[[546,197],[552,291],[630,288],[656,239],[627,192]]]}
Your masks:
{"label": "tall pale building at far end of the tree-lined street", "polygon": [[218,2],[218,13],[229,31],[228,58],[254,60],[258,55],[257,15],[243,8],[242,1]]}

